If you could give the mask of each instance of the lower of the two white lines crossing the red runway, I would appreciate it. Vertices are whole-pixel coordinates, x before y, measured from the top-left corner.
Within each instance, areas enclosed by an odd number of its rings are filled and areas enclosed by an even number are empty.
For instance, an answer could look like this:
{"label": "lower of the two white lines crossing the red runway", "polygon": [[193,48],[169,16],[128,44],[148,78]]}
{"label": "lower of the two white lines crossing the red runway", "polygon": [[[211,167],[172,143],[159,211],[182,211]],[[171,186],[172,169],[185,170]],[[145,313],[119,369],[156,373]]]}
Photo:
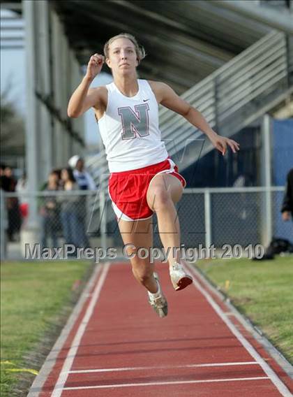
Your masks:
{"label": "lower of the two white lines crossing the red runway", "polygon": [[87,389],[108,389],[110,387],[140,387],[140,386],[164,386],[170,384],[192,384],[192,383],[213,383],[213,382],[238,382],[244,380],[269,380],[267,376],[259,377],[234,377],[227,379],[209,380],[179,380],[174,382],[148,382],[148,383],[120,383],[120,384],[97,384],[96,386],[64,387],[63,390],[87,390]]}

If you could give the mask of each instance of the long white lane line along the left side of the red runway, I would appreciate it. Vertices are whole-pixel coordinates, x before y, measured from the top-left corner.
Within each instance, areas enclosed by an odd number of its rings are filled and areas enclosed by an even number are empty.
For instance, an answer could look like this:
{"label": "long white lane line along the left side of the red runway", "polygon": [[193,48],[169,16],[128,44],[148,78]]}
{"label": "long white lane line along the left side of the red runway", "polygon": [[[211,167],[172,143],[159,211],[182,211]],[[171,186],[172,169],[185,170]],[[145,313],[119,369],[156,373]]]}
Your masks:
{"label": "long white lane line along the left side of the red runway", "polygon": [[87,311],[85,312],[82,322],[80,323],[80,326],[77,329],[75,338],[73,339],[73,342],[71,343],[70,349],[69,349],[66,359],[63,363],[61,373],[59,375],[57,383],[55,384],[54,390],[51,394],[52,397],[60,397],[61,396],[61,393],[64,389],[64,384],[68,377],[68,371],[70,370],[70,368],[73,364],[73,360],[75,359],[77,349],[80,346],[80,340],[82,339],[82,335],[84,335],[84,331],[87,328],[89,319],[91,318],[91,315],[93,314],[93,308],[95,307],[96,302],[98,301],[98,298],[100,296],[100,291],[101,291],[103,284],[105,282],[105,278],[107,276],[109,268],[110,268],[110,263],[107,262],[103,267],[102,273],[98,280],[98,284],[96,285],[96,288],[93,291],[93,295],[91,296],[91,301],[89,303]]}

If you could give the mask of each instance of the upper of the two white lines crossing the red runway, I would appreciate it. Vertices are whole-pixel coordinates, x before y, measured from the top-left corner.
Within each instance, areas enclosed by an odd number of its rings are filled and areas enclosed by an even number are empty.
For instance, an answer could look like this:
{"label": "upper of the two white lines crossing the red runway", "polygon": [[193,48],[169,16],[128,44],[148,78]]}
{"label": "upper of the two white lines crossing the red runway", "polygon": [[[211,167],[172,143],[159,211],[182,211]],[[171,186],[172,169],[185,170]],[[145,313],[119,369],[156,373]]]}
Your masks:
{"label": "upper of the two white lines crossing the red runway", "polygon": [[224,366],[259,366],[256,361],[241,361],[238,363],[206,363],[206,364],[186,364],[185,366],[153,366],[153,367],[121,367],[121,368],[93,368],[88,370],[72,370],[68,373],[105,373],[117,371],[137,371],[137,370],[167,370],[173,368],[202,368],[202,367],[224,367]]}

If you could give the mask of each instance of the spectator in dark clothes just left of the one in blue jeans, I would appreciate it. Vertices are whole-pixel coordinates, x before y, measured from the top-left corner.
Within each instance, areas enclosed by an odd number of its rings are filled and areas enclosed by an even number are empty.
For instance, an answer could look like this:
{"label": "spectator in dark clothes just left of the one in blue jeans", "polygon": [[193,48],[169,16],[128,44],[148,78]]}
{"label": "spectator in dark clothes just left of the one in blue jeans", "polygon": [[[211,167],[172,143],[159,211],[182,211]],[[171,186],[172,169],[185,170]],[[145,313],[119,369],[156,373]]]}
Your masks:
{"label": "spectator in dark clothes just left of the one in blue jeans", "polygon": [[41,245],[42,249],[49,246],[48,238],[52,239],[52,247],[58,247],[59,231],[59,203],[56,192],[59,190],[59,175],[52,171],[43,186],[43,192],[52,192],[52,195],[42,197],[40,206],[41,220]]}

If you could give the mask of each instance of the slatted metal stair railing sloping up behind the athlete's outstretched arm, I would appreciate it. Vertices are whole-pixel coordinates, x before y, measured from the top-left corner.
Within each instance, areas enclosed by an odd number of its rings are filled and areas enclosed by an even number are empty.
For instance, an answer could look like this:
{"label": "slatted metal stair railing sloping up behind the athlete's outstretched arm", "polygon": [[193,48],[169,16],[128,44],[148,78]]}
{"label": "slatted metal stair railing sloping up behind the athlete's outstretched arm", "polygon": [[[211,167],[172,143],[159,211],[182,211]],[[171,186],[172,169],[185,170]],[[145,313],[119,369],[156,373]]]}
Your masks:
{"label": "slatted metal stair railing sloping up behind the athlete's outstretched arm", "polygon": [[[293,92],[293,59],[285,34],[273,31],[182,95],[220,135],[231,136]],[[290,59],[288,58],[290,56]],[[171,156],[203,134],[180,115],[160,111],[160,129]],[[211,150],[206,142],[202,155]],[[181,171],[194,159],[182,158]]]}

